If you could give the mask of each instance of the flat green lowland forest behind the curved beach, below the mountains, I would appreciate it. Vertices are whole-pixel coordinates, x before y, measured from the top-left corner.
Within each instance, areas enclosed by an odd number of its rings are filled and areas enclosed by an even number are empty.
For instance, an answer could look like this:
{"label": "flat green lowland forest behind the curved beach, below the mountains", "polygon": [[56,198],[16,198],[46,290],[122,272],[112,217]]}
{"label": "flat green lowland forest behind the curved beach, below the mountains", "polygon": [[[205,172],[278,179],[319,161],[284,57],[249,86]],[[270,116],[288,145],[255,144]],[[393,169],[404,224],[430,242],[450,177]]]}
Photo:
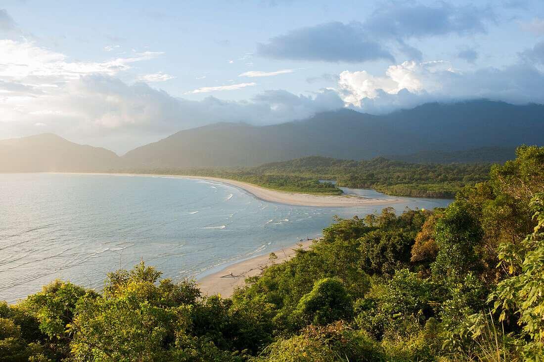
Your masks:
{"label": "flat green lowland forest behind the curved beach, below the mountains", "polygon": [[128,172],[219,177],[274,190],[325,195],[339,195],[342,190],[319,180],[336,180],[339,187],[376,189],[390,195],[453,198],[463,186],[489,179],[489,170],[490,164],[412,164],[383,157],[354,161],[310,156],[235,170],[154,168]]}

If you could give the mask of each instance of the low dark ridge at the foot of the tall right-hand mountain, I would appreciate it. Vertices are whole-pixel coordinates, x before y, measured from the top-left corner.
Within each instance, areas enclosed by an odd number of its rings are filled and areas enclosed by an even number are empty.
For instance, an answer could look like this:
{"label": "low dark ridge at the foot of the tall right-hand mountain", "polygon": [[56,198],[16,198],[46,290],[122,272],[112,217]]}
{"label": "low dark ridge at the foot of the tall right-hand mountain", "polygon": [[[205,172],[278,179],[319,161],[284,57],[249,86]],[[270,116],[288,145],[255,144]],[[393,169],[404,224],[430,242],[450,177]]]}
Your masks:
{"label": "low dark ridge at the foot of the tall right-hand mountain", "polygon": [[516,158],[516,147],[478,147],[464,151],[421,151],[406,155],[384,155],[395,161],[415,164],[493,163],[503,164]]}

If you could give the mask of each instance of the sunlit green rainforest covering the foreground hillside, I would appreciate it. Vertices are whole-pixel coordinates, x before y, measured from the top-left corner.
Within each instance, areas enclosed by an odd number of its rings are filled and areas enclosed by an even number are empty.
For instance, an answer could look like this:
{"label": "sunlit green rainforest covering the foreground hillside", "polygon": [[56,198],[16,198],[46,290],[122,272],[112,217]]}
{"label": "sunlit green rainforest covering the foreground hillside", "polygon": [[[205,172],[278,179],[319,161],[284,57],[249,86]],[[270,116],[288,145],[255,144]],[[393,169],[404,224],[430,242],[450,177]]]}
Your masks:
{"label": "sunlit green rainforest covering the foreground hillside", "polygon": [[542,361],[544,147],[446,209],[336,218],[309,251],[201,295],[154,267],[0,304],[2,361]]}

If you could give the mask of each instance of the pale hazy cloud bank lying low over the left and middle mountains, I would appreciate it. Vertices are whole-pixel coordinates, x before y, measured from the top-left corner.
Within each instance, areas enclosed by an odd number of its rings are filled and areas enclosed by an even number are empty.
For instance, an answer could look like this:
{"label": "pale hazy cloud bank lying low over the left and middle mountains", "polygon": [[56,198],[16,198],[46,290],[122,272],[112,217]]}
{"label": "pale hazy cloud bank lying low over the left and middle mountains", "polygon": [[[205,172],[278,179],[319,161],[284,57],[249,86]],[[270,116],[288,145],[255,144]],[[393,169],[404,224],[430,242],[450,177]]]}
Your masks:
{"label": "pale hazy cloud bank lying low over the left and middle mountains", "polygon": [[11,97],[0,103],[0,134],[52,132],[78,143],[90,143],[123,153],[178,130],[214,122],[255,125],[304,119],[319,111],[342,108],[336,92],[296,96],[270,90],[246,101],[202,101],[176,98],[145,83],[92,74],[63,83],[54,97]]}

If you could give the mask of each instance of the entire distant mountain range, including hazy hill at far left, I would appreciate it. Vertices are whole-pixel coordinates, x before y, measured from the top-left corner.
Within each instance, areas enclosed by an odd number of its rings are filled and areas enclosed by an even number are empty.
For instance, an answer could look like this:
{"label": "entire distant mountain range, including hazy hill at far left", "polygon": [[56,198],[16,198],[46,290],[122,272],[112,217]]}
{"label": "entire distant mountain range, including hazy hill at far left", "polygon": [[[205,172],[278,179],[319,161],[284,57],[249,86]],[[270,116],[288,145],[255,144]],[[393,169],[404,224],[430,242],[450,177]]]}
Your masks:
{"label": "entire distant mountain range, including hazy hill at far left", "polygon": [[[123,157],[53,134],[0,141],[0,172],[255,166],[320,155],[409,162],[503,162],[542,146],[544,105],[429,103],[388,115],[342,109],[274,126],[217,123],[183,130]],[[438,150],[438,151],[437,151]]]}

